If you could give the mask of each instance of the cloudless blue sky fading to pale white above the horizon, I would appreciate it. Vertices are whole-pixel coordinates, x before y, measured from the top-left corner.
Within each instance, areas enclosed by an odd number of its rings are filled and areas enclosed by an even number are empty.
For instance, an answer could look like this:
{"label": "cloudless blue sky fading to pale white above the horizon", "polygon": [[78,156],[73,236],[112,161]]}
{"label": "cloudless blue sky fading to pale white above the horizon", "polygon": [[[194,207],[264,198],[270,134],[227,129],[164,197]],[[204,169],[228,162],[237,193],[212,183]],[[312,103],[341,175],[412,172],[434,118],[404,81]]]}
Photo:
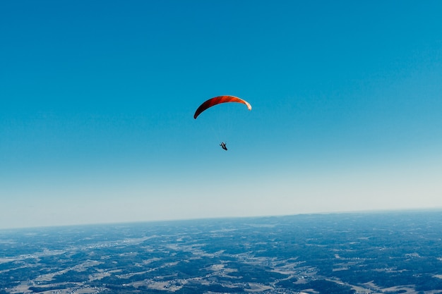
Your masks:
{"label": "cloudless blue sky fading to pale white above the horizon", "polygon": [[1,1],[0,228],[442,208],[441,15]]}

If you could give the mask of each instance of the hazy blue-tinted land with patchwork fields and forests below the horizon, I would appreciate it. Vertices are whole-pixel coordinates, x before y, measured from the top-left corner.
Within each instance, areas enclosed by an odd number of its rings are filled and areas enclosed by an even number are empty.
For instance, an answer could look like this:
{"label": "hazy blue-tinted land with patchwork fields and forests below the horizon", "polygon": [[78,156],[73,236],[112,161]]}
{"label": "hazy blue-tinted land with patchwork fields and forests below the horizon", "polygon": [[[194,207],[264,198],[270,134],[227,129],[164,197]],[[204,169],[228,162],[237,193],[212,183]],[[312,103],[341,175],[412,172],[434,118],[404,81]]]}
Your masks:
{"label": "hazy blue-tinted land with patchwork fields and forests below the horizon", "polygon": [[0,231],[0,293],[442,293],[442,212]]}

